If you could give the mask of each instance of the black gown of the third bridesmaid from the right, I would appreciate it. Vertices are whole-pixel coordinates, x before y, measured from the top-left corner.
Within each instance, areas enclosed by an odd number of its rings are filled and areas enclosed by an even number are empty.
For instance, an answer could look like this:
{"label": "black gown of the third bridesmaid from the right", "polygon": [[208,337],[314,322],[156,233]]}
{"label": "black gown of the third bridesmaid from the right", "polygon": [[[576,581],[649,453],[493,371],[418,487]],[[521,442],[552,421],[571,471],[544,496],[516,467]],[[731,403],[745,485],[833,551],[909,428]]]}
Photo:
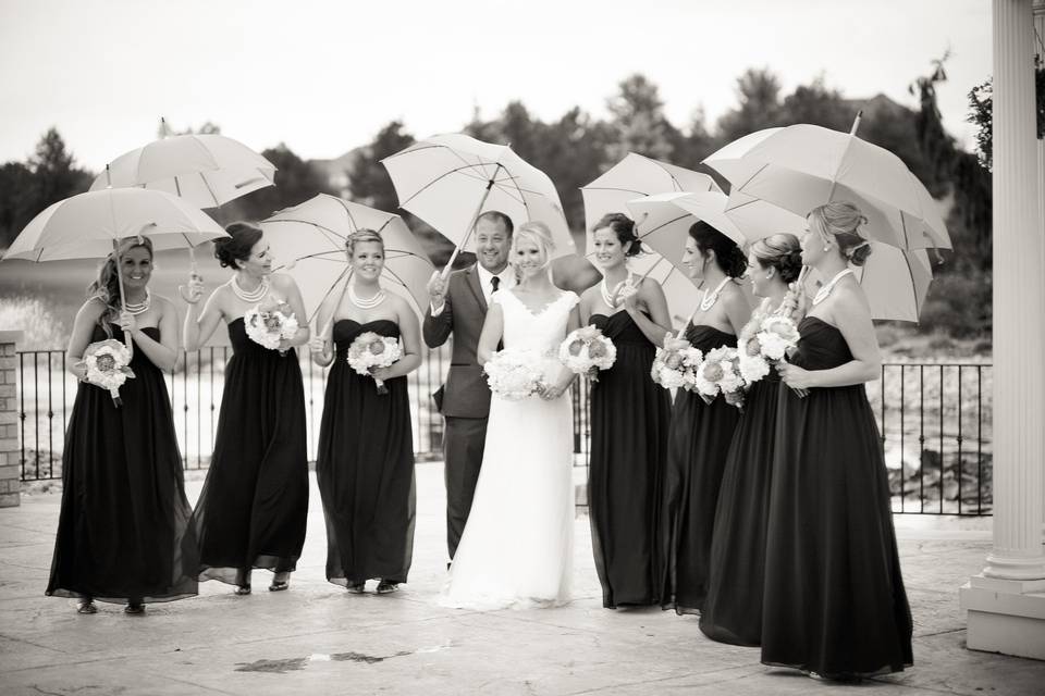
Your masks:
{"label": "black gown of the third bridesmaid from the right", "polygon": [[[712,326],[690,325],[686,339],[703,352],[736,346],[737,337]],[[723,397],[711,403],[679,389],[667,444],[660,569],[661,605],[697,613],[708,595],[711,537],[718,486],[740,411]]]}

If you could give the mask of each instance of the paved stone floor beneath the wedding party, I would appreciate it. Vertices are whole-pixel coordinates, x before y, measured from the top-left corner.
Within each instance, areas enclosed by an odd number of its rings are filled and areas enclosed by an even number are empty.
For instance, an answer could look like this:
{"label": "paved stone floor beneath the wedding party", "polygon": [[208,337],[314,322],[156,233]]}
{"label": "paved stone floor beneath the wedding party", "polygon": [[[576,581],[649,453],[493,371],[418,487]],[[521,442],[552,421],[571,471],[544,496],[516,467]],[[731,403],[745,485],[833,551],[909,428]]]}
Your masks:
{"label": "paved stone floor beneath the wedding party", "polygon": [[[560,609],[472,612],[435,606],[445,575],[440,463],[417,467],[410,583],[348,595],[323,577],[325,539],[312,478],[309,534],[290,592],[200,596],[143,617],[44,596],[59,496],[0,510],[2,694],[1045,694],[1045,662],[964,647],[958,587],[989,548],[989,520],[897,518],[914,613],[914,668],[856,686],[759,663],[758,649],[706,639],[692,617],[608,611],[576,522],[575,594]],[[195,500],[200,482],[189,483]],[[373,585],[368,586],[372,591]],[[857,629],[859,630],[859,629]],[[1045,637],[1043,637],[1045,639]]]}

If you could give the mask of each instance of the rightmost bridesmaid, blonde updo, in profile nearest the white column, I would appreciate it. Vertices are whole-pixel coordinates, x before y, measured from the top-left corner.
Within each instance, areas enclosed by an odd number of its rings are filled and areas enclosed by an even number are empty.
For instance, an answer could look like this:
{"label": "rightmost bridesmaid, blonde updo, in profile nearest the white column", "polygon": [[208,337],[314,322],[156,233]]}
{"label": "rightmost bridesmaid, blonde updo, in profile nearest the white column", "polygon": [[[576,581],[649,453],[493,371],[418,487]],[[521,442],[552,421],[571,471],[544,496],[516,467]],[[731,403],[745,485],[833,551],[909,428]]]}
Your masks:
{"label": "rightmost bridesmaid, blonde updo, in profile nearest the white column", "polygon": [[800,399],[780,394],[773,458],[762,616],[762,661],[829,679],[912,664],[907,604],[878,428],[864,383],[881,356],[849,264],[871,247],[852,203],[814,208],[802,260],[826,281],[782,368]]}

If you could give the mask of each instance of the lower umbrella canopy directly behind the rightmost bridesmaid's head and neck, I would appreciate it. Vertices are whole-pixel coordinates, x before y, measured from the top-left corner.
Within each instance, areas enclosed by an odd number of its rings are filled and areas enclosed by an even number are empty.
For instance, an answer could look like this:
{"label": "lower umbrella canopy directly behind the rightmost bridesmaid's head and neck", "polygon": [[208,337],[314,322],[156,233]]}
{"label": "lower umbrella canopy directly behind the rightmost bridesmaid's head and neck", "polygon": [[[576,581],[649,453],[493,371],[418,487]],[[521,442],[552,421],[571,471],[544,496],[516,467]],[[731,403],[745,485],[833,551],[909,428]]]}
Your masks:
{"label": "lower umbrella canopy directly behind the rightmost bridesmaid's head and neck", "polygon": [[[933,281],[932,264],[924,249],[898,249],[881,241],[871,241],[871,256],[853,275],[868,296],[872,319],[893,319],[917,322]],[[822,278],[810,270],[806,289],[815,295]]]}

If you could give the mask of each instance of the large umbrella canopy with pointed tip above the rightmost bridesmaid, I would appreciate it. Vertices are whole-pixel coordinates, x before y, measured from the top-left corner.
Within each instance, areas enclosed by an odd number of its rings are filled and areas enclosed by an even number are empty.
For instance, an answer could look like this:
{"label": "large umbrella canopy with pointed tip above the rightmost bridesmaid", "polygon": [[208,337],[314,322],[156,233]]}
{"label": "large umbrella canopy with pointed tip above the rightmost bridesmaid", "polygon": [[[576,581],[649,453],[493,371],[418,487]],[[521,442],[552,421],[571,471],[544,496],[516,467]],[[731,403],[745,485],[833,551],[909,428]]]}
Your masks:
{"label": "large umbrella canopy with pointed tip above the rightmost bridesmaid", "polygon": [[856,203],[866,234],[903,249],[950,248],[935,202],[902,160],[851,133],[810,124],[766,128],[730,142],[704,162],[733,184],[739,210],[765,200],[804,216],[835,200]]}

